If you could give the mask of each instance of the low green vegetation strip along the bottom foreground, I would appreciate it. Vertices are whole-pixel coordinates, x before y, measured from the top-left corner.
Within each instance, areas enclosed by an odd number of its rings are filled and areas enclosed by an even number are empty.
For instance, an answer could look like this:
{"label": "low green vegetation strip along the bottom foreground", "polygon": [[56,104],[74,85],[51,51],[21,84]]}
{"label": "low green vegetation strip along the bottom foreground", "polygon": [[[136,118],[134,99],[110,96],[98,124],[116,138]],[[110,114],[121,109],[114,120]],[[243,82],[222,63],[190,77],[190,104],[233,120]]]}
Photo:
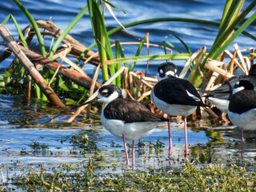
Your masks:
{"label": "low green vegetation strip along the bottom foreground", "polygon": [[[1,170],[3,167],[1,167]],[[211,163],[198,166],[185,162],[181,167],[124,170],[122,174],[104,173],[92,158],[78,164],[62,164],[49,170],[31,168],[15,174],[2,186],[28,191],[254,191],[256,170],[244,164],[230,166]]]}

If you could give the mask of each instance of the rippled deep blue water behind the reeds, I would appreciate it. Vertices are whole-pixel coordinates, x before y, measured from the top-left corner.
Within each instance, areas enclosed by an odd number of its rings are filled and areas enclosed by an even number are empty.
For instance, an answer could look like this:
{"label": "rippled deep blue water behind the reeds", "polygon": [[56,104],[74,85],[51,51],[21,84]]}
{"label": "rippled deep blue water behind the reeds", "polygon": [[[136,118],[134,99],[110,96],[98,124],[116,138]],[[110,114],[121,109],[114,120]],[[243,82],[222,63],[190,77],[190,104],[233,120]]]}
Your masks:
{"label": "rippled deep blue water behind the reeds", "polygon": [[[59,0],[59,1],[21,1],[22,5],[30,11],[30,14],[34,17],[35,20],[48,20],[51,19],[60,29],[65,30],[66,26],[72,21],[72,19],[78,14],[82,7],[86,6],[86,1],[75,1],[75,0]],[[114,6],[124,10],[126,16],[119,11],[114,9],[114,14],[118,20],[124,25],[130,22],[136,22],[139,20],[147,18],[198,18],[205,19],[214,22],[220,22],[222,17],[222,10],[225,6],[224,0],[217,1],[111,1]],[[250,4],[252,1],[246,1],[245,6]],[[22,11],[18,9],[18,6],[12,1],[3,1],[2,6],[0,7],[0,22],[7,17],[8,14],[13,14],[16,18],[18,25],[21,29],[25,28],[29,21],[24,16]],[[111,16],[109,11],[106,10],[105,13],[105,22],[108,29],[112,29],[118,26],[118,23]],[[14,27],[13,22],[8,22],[6,25],[10,30],[11,34],[15,38],[18,38],[18,32]],[[178,39],[166,36],[170,34],[176,34],[179,38],[182,38],[189,46],[192,52],[202,48],[202,46],[207,46],[207,50],[210,50],[210,46],[214,42],[214,38],[218,32],[216,26],[206,26],[200,25],[197,23],[186,23],[186,22],[158,22],[144,24],[140,26],[133,26],[127,28],[130,34],[137,36],[138,38],[143,38],[146,33],[150,33],[150,42],[156,44],[162,44],[163,40],[171,42],[177,46],[180,50],[186,52],[186,49],[178,41]],[[256,26],[255,22],[252,23],[247,28],[247,31],[256,35]],[[79,42],[82,42],[83,45],[89,46],[94,42],[94,36],[91,30],[90,18],[88,12],[86,15],[74,26],[73,30],[70,31],[70,35],[76,38]],[[110,41],[118,39],[120,42],[134,42],[136,39],[129,34],[126,34],[123,30],[117,34],[110,36]],[[50,42],[51,38],[46,38],[46,41]],[[247,38],[244,35],[241,35],[237,38],[234,43],[238,43],[241,50],[254,46],[254,41],[250,38]],[[232,43],[232,45],[234,44]],[[229,50],[234,50],[233,46],[229,47]],[[134,56],[134,50],[138,46],[123,46],[126,57]],[[0,51],[3,50],[3,46],[0,46]],[[96,47],[93,49],[96,50]],[[0,52],[1,53],[1,52]],[[174,54],[177,51],[174,50]],[[147,50],[144,49],[142,54],[147,54]],[[150,54],[164,54],[162,49],[150,47]],[[11,59],[7,62],[2,63],[1,68],[9,66]],[[161,61],[160,61],[161,62]],[[185,61],[175,61],[178,66],[183,66]],[[149,75],[155,75],[155,70],[159,62],[150,62]],[[135,70],[145,71],[146,62],[139,62]],[[92,66],[88,65],[88,68]],[[0,70],[1,71],[1,70]],[[89,73],[90,74],[90,73]],[[92,76],[92,74],[90,74]]]}

